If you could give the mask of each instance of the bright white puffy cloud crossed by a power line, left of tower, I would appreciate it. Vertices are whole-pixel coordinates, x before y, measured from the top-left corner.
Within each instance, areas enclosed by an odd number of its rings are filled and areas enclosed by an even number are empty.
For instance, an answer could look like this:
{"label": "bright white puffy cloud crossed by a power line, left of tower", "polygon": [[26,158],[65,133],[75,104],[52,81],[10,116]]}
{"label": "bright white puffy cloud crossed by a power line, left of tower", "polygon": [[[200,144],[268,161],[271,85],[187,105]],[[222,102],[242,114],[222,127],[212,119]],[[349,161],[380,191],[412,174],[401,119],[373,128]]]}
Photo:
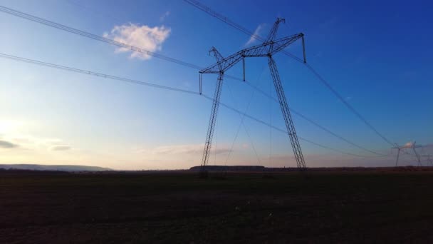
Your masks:
{"label": "bright white puffy cloud crossed by a power line, left of tower", "polygon": [[[110,34],[105,33],[104,37],[113,39],[130,46],[137,46],[140,49],[147,51],[160,51],[162,43],[168,38],[171,29],[165,26],[155,26],[153,28],[146,25],[124,24],[122,26],[114,26]],[[117,52],[131,52],[131,58],[150,59],[152,56],[131,51],[130,49],[118,48]]]}

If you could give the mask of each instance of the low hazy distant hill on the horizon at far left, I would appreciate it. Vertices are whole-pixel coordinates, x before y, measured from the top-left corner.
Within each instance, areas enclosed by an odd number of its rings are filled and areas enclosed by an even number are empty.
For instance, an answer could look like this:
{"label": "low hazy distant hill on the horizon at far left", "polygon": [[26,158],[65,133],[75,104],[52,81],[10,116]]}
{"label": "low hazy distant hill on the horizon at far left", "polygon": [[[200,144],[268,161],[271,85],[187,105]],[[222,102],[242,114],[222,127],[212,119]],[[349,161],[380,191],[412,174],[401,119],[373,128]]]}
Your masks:
{"label": "low hazy distant hill on the horizon at far left", "polygon": [[0,168],[18,169],[29,171],[113,171],[111,168],[103,168],[96,166],[46,166],[41,164],[0,164]]}

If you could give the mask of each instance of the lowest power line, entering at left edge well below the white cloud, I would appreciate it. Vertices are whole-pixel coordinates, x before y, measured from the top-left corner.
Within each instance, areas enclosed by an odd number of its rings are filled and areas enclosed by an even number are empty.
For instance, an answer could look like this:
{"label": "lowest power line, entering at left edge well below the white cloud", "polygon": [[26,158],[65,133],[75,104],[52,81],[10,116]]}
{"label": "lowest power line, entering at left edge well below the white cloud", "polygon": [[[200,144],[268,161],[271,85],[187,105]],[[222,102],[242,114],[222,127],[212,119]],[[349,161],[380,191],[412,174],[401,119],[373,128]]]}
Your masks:
{"label": "lowest power line, entering at left edge well below the white cloud", "polygon": [[[149,83],[149,82],[145,82],[145,81],[137,81],[137,80],[134,80],[134,79],[123,78],[123,77],[120,77],[120,76],[111,76],[111,75],[108,75],[108,74],[105,74],[105,73],[86,71],[86,70],[83,70],[83,69],[80,69],[80,68],[73,68],[73,67],[68,67],[68,66],[62,66],[62,65],[58,65],[58,64],[54,64],[54,63],[48,63],[48,62],[44,62],[44,61],[37,61],[37,60],[33,60],[33,59],[26,59],[26,58],[22,58],[22,57],[19,57],[19,56],[12,56],[12,55],[9,55],[9,54],[2,54],[2,53],[0,53],[0,57],[4,58],[4,59],[11,59],[11,60],[14,60],[14,61],[21,61],[21,62],[24,62],[24,63],[32,63],[32,64],[36,64],[36,65],[39,65],[39,66],[46,66],[46,67],[49,67],[49,68],[57,68],[57,69],[61,69],[63,71],[82,73],[82,74],[89,75],[89,76],[97,76],[97,77],[100,77],[100,78],[109,78],[109,79],[123,81],[123,82],[127,82],[127,83],[135,83],[135,84],[138,84],[138,85],[151,86],[151,87],[155,87],[155,88],[165,89],[165,90],[168,90],[168,91],[178,91],[178,92],[182,92],[182,93],[188,93],[188,94],[200,96],[200,94],[198,92],[196,92],[196,91],[188,91],[188,90],[184,90],[184,89],[180,89],[180,88],[174,88],[174,87],[171,87],[171,86],[162,86],[162,85],[158,85],[158,84],[155,84],[155,83]],[[213,101],[214,100],[214,98],[211,98],[211,97],[209,97],[209,96],[207,96],[205,94],[202,94],[201,96],[203,98],[208,99],[209,101]],[[220,102],[219,104],[221,106],[224,106],[225,108],[229,108],[231,111],[239,113],[241,116],[250,118],[253,121],[261,123],[264,126],[268,126],[270,128],[273,128],[276,131],[281,131],[282,133],[287,133],[287,131],[285,131],[285,130],[283,130],[281,128],[278,128],[278,127],[273,126],[273,125],[271,125],[269,123],[266,123],[265,121],[261,121],[259,118],[255,118],[254,116],[250,116],[247,113],[243,113],[243,112],[239,111],[238,109],[233,108],[233,107],[231,107],[231,106],[229,106],[229,105],[227,105],[225,103]],[[335,148],[330,148],[330,147],[325,146],[325,145],[320,144],[320,143],[315,143],[314,141],[308,140],[306,138],[301,138],[301,137],[299,137],[299,138],[301,140],[303,140],[303,141],[308,142],[308,143],[312,143],[315,146],[320,146],[321,148],[326,148],[328,150],[336,151],[338,153],[342,153],[342,154],[345,154],[345,155],[348,155],[348,156],[356,156],[356,157],[360,157],[360,158],[379,158],[380,157],[380,156],[362,156],[362,155],[358,155],[358,154],[355,154],[355,153],[346,153],[344,151],[340,151],[340,150],[335,149]]]}

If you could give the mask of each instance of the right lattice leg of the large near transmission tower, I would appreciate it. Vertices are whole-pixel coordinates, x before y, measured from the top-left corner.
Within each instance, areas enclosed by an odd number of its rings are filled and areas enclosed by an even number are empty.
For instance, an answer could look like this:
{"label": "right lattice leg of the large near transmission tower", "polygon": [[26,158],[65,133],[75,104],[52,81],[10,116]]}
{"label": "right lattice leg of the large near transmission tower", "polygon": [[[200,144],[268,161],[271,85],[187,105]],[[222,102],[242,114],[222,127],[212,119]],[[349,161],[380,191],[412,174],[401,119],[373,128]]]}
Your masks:
{"label": "right lattice leg of the large near transmission tower", "polygon": [[288,137],[290,138],[292,148],[293,148],[293,153],[295,154],[296,164],[298,168],[305,169],[306,162],[303,158],[301,145],[299,144],[298,141],[298,136],[296,136],[295,126],[293,125],[290,110],[288,109],[286,95],[284,94],[283,91],[283,85],[281,84],[280,75],[278,74],[276,63],[271,56],[269,56],[268,64],[269,64],[269,68],[271,68],[273,84],[275,85],[276,93],[278,95],[278,101],[280,103],[281,111],[283,112],[284,121],[286,122]]}

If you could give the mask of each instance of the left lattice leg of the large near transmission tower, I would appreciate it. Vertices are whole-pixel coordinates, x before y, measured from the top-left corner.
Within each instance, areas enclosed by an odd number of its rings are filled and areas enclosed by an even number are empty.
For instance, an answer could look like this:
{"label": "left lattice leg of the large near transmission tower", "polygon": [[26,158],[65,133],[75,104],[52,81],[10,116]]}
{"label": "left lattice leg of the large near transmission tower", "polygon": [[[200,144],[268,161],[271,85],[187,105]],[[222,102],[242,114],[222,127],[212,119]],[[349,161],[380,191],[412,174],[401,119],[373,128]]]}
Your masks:
{"label": "left lattice leg of the large near transmission tower", "polygon": [[212,138],[214,136],[216,114],[218,113],[219,97],[221,95],[223,76],[224,76],[223,73],[219,73],[218,81],[216,82],[216,88],[215,88],[215,93],[214,93],[214,102],[212,103],[212,111],[211,111],[211,116],[209,118],[209,127],[207,128],[206,141],[204,142],[202,169],[201,169],[201,171],[202,171],[201,174],[203,174],[203,176],[205,174],[207,174],[206,170],[205,170],[205,166],[207,165],[207,161],[209,160],[209,154],[211,151]]}

